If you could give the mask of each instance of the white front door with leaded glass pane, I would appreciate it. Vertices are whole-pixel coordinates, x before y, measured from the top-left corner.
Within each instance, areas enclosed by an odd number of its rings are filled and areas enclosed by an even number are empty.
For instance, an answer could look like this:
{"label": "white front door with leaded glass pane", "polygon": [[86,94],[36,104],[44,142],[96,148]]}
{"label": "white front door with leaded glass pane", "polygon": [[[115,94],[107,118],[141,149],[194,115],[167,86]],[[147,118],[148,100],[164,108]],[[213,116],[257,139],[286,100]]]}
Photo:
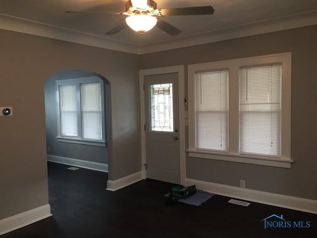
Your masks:
{"label": "white front door with leaded glass pane", "polygon": [[147,178],[179,184],[178,73],[147,75],[144,83]]}

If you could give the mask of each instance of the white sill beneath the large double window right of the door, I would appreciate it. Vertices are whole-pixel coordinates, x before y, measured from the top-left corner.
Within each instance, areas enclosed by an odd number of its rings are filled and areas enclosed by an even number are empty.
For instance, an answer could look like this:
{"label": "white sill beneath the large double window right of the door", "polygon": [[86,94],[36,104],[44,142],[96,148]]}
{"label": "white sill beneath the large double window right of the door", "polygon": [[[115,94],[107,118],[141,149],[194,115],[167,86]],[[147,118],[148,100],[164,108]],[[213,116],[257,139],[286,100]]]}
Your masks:
{"label": "white sill beneath the large double window right of the door", "polygon": [[280,167],[280,168],[287,168],[287,169],[290,169],[291,164],[294,162],[293,160],[288,160],[288,159],[266,158],[266,157],[249,156],[249,155],[224,154],[224,153],[201,151],[201,150],[195,150],[195,149],[189,149],[186,151],[188,152],[189,157],[194,157],[194,158],[222,160],[222,161],[230,161],[230,162],[245,163],[245,164]]}

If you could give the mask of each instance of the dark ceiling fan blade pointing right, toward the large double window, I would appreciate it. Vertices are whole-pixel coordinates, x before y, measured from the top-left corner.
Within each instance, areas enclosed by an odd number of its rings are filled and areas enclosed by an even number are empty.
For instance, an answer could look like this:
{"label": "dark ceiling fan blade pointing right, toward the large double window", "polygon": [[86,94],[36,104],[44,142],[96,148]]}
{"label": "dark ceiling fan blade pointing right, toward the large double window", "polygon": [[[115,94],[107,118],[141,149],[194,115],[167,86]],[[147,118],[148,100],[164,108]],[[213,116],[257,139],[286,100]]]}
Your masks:
{"label": "dark ceiling fan blade pointing right, toward the large double window", "polygon": [[162,16],[212,15],[212,6],[192,6],[158,9]]}

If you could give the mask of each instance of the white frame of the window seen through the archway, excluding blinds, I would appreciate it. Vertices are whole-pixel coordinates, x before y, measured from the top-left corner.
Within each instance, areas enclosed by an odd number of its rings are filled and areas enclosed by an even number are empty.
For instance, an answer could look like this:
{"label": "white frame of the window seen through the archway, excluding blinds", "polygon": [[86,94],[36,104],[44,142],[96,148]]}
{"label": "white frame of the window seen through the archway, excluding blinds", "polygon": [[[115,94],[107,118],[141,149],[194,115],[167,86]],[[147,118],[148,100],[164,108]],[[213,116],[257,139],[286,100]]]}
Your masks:
{"label": "white frame of the window seen through the archway, excluding blinds", "polygon": [[[67,84],[76,84],[76,94],[80,95],[80,84],[82,83],[100,83],[100,96],[101,96],[101,124],[102,124],[102,140],[89,140],[82,138],[82,125],[81,120],[78,122],[78,136],[70,137],[70,136],[62,136],[60,133],[60,109],[59,109],[59,86],[67,85]],[[79,96],[80,97],[80,96]],[[81,108],[81,101],[77,101],[77,108]],[[83,144],[83,145],[93,145],[93,146],[101,146],[106,147],[106,131],[105,131],[105,89],[104,89],[104,81],[97,77],[83,77],[83,78],[71,78],[71,79],[63,79],[56,80],[56,109],[57,109],[57,141],[66,142],[66,143],[74,143],[74,144]],[[81,118],[81,110],[77,112],[77,117]]]}

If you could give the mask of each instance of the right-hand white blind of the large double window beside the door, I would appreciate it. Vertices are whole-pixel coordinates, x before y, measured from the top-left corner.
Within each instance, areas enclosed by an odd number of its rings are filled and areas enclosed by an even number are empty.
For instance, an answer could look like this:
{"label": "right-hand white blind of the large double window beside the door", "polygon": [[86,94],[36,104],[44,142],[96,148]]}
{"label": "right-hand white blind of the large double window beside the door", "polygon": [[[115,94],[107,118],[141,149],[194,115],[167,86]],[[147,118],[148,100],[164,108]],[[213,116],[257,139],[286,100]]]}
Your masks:
{"label": "right-hand white blind of the large double window beside the door", "polygon": [[281,64],[240,68],[240,154],[280,157]]}

